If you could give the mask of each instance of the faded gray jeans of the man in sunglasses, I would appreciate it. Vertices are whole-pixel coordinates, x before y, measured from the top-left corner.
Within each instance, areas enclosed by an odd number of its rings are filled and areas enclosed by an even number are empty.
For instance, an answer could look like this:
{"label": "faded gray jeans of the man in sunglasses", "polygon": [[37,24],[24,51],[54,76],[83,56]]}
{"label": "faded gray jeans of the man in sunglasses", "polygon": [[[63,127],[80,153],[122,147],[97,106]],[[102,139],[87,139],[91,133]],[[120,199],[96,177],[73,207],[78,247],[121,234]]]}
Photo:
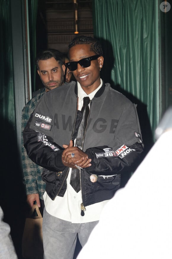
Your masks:
{"label": "faded gray jeans of the man in sunglasses", "polygon": [[44,208],[43,246],[44,259],[72,259],[74,256],[77,234],[84,246],[98,221],[71,223],[51,216]]}

